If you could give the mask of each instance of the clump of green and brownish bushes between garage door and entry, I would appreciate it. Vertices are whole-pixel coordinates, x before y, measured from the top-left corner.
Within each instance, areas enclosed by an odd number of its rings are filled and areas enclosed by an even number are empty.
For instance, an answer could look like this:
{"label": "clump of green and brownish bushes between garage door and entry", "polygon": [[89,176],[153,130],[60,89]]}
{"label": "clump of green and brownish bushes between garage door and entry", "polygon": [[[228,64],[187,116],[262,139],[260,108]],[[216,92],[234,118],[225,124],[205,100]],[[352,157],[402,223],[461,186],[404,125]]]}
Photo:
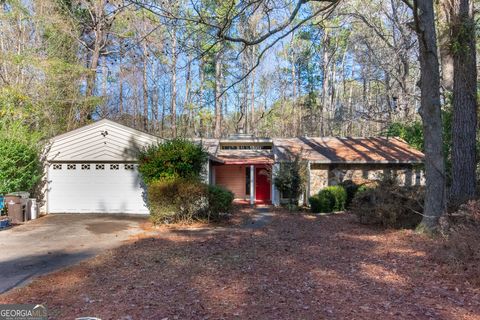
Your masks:
{"label": "clump of green and brownish bushes between garage door and entry", "polygon": [[148,185],[148,207],[154,224],[220,220],[233,193],[200,181],[208,155],[194,142],[173,139],[143,150],[139,171]]}

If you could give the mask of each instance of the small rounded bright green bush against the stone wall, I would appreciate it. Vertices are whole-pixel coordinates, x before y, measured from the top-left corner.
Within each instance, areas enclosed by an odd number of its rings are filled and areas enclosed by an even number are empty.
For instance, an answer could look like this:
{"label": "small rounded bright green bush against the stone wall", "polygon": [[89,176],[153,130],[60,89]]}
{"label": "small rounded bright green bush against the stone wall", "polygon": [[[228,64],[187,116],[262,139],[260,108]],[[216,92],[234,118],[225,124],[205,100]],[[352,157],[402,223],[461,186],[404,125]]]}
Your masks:
{"label": "small rounded bright green bush against the stone wall", "polygon": [[342,186],[330,186],[320,190],[308,200],[313,213],[342,211],[345,210],[347,192]]}

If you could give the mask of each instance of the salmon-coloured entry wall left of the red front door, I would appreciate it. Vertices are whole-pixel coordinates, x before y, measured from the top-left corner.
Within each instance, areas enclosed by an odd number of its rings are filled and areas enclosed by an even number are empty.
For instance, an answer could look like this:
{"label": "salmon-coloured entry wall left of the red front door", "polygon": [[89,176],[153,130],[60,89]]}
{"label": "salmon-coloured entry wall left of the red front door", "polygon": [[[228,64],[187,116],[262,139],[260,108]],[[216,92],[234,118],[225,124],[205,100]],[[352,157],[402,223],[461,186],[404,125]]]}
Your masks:
{"label": "salmon-coloured entry wall left of the red front door", "polygon": [[215,184],[227,188],[235,195],[235,199],[246,199],[246,166],[223,165],[214,166]]}

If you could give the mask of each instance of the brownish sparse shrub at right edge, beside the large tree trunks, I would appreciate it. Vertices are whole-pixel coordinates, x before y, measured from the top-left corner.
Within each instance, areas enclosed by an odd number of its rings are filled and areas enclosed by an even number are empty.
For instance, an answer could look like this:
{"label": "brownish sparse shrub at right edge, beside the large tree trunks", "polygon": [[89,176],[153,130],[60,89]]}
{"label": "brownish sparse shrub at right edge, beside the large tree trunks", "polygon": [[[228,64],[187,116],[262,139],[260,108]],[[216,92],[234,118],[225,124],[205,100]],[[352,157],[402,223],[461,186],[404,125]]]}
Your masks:
{"label": "brownish sparse shrub at right edge, beside the large tree trunks", "polygon": [[480,284],[480,201],[469,201],[440,219],[443,246],[435,252],[454,271]]}

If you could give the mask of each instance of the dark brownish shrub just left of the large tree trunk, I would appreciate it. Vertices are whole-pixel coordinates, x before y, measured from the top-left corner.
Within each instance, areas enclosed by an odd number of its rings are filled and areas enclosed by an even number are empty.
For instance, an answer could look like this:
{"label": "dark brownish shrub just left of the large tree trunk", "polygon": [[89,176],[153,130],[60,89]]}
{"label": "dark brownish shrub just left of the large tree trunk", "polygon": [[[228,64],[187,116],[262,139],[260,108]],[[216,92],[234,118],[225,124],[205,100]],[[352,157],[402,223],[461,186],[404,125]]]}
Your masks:
{"label": "dark brownish shrub just left of the large tree trunk", "polygon": [[[363,189],[363,188],[362,188]],[[356,193],[350,210],[360,223],[386,228],[415,228],[422,220],[424,188],[401,187],[386,180]]]}

